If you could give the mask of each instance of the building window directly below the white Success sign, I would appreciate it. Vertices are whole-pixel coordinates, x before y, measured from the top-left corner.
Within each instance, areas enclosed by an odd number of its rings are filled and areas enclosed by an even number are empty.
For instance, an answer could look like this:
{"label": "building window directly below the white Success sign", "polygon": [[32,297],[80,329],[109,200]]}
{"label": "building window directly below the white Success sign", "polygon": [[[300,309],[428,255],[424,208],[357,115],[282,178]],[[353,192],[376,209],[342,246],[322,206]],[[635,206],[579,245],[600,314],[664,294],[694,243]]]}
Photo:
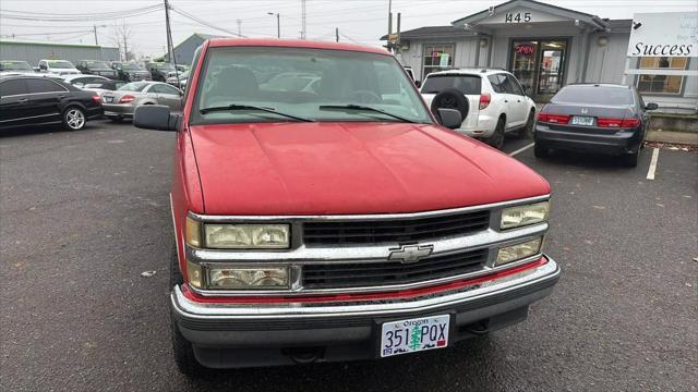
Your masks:
{"label": "building window directly below the white Success sign", "polygon": [[[688,58],[640,58],[640,70],[685,70]],[[645,94],[681,94],[684,76],[640,75],[637,89]]]}

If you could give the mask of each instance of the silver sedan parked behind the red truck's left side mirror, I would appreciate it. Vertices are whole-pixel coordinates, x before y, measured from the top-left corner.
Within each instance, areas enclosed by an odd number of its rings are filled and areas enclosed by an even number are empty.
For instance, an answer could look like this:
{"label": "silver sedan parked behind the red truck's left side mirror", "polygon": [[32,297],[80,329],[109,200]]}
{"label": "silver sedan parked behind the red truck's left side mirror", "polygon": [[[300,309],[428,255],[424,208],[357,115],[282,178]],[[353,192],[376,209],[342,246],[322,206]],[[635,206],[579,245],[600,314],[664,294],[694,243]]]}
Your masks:
{"label": "silver sedan parked behind the red truck's left side mirror", "polygon": [[180,89],[160,82],[131,82],[101,94],[105,117],[113,121],[133,118],[135,108],[141,105],[164,105],[179,111],[181,98]]}

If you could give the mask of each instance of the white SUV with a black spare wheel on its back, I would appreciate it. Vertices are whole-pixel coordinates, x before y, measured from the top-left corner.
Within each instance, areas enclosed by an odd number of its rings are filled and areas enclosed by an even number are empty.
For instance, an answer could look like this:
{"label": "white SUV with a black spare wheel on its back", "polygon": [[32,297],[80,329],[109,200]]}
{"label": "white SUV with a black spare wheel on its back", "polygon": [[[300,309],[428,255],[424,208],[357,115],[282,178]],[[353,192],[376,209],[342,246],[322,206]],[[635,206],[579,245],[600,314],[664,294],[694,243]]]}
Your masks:
{"label": "white SUV with a black spare wheel on its back", "polygon": [[460,127],[465,135],[484,139],[502,148],[504,134],[532,134],[535,124],[535,102],[529,98],[519,81],[502,70],[449,70],[426,76],[421,94],[435,108],[457,109],[464,117]]}

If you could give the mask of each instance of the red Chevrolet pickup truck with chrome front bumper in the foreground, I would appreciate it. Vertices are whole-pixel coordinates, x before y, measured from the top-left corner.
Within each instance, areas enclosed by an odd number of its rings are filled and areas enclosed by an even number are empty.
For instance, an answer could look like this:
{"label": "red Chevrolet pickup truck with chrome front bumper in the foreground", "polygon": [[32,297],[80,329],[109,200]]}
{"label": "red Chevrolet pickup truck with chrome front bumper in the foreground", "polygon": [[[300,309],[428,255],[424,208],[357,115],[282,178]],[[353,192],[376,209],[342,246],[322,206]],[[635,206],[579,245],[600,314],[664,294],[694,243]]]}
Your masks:
{"label": "red Chevrolet pickup truck with chrome front bumper in the foreground", "polygon": [[390,53],[212,39],[192,65],[181,113],[134,118],[177,134],[183,373],[447,347],[551,293],[549,184],[448,130]]}

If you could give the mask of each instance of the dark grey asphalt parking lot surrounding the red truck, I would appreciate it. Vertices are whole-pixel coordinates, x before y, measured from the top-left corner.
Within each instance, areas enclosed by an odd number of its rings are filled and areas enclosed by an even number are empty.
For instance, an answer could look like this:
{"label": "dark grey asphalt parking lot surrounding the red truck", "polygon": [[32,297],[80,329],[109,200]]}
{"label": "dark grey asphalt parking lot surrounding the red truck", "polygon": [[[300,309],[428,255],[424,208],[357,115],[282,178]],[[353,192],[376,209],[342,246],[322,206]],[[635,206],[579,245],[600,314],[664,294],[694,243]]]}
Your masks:
{"label": "dark grey asphalt parking lot surrounding the red truck", "polygon": [[[506,152],[553,188],[546,252],[563,268],[529,319],[381,362],[221,372],[172,362],[168,189],[174,137],[92,122],[0,135],[0,384],[5,391],[695,391],[698,154],[635,169]],[[152,278],[143,271],[154,270]]]}

